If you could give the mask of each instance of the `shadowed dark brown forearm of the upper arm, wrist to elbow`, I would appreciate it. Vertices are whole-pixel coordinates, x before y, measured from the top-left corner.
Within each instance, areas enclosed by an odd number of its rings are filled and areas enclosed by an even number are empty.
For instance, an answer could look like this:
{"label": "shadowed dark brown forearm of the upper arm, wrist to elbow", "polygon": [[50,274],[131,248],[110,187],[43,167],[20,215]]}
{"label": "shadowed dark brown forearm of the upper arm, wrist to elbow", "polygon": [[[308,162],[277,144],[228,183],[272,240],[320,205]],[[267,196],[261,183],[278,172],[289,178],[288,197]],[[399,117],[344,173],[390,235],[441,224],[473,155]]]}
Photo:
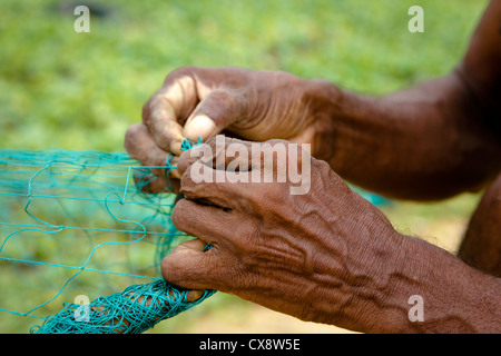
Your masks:
{"label": "shadowed dark brown forearm of the upper arm, wrist to elbow", "polygon": [[358,186],[433,200],[480,189],[501,169],[501,142],[456,72],[380,98],[312,88],[323,110],[314,155]]}

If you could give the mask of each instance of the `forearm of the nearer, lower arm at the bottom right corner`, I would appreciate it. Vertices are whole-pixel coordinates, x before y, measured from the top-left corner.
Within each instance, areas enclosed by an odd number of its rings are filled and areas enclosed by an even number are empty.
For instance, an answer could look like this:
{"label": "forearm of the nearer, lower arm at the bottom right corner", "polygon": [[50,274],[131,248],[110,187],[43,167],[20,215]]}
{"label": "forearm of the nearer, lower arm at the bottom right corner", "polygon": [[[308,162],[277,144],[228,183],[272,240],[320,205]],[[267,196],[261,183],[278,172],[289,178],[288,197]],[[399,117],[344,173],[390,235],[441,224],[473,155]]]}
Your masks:
{"label": "forearm of the nearer, lower arm at the bottom right corner", "polygon": [[499,279],[419,238],[400,235],[400,240],[377,277],[384,288],[367,294],[370,332],[499,332]]}

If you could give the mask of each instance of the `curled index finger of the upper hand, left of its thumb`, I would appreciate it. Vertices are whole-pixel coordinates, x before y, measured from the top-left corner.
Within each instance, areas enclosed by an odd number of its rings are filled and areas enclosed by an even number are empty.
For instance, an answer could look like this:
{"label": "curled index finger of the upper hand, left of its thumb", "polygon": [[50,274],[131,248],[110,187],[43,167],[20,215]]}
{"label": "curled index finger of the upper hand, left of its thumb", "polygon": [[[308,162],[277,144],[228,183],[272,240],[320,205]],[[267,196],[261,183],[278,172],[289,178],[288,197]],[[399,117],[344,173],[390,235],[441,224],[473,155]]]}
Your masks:
{"label": "curled index finger of the upper hand, left of its thumb", "polygon": [[191,76],[179,71],[167,76],[164,88],[143,107],[143,121],[159,147],[175,155],[181,154],[185,138],[181,122],[197,102],[195,79]]}

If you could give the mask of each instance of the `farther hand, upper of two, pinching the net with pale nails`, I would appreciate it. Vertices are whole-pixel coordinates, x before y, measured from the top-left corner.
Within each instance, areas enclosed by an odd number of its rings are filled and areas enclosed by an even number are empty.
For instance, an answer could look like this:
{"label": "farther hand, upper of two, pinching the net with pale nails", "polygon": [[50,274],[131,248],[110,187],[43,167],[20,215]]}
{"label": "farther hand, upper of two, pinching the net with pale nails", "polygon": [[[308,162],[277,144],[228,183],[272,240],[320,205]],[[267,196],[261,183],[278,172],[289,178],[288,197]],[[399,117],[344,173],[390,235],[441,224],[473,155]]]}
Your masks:
{"label": "farther hand, upper of two, pinching the net with pale nails", "polygon": [[[323,101],[311,83],[286,72],[242,68],[185,67],[169,73],[143,108],[143,123],[130,127],[126,149],[147,166],[165,166],[181,154],[181,141],[219,132],[249,140],[287,139],[313,144]],[[317,90],[317,87],[314,87]],[[151,171],[163,177],[161,169]],[[176,170],[170,177],[179,178]],[[163,179],[150,191],[165,189]]]}

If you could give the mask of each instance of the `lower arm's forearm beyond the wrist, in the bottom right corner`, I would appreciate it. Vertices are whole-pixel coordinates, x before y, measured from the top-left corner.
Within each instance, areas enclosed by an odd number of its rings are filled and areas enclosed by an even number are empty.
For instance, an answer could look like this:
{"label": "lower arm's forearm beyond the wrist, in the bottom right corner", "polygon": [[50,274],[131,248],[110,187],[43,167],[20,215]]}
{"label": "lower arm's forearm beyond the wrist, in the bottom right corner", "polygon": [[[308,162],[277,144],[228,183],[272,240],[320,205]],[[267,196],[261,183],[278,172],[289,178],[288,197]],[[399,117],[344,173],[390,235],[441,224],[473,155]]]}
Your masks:
{"label": "lower arm's forearm beyond the wrist, in the bottom right corner", "polygon": [[[448,251],[423,240],[410,238],[401,260],[403,273],[393,274],[387,299],[391,322],[399,315],[403,332],[418,333],[500,333],[501,280],[468,266]],[[391,280],[391,279],[390,279]],[[423,320],[411,320],[411,296],[422,297]],[[383,316],[387,313],[383,312]],[[389,325],[391,325],[391,322]],[[377,324],[380,325],[380,324]],[[383,324],[384,325],[384,324]]]}

